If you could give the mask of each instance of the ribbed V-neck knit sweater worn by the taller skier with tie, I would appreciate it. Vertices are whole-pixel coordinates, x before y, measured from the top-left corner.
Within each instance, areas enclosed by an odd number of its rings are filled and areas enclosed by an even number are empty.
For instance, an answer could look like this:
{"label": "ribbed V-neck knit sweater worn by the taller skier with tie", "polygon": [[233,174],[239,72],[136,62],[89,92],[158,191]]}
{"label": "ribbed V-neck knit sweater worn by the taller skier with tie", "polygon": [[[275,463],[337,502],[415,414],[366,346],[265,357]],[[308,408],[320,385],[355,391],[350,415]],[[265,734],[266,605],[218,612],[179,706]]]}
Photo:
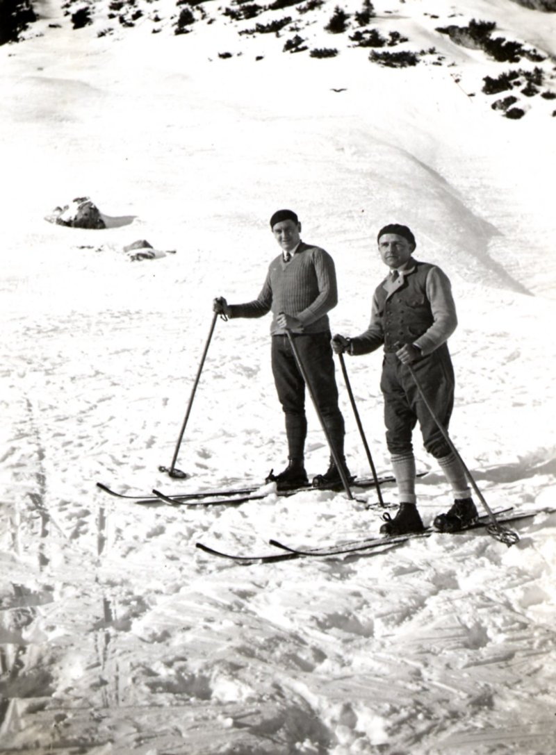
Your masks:
{"label": "ribbed V-neck knit sweater worn by the taller skier with tie", "polygon": [[262,317],[272,311],[270,333],[281,335],[286,331],[276,317],[285,313],[301,322],[294,333],[323,333],[330,329],[327,313],[336,304],[334,260],[324,249],[301,242],[289,262],[282,254],[272,260],[261,293],[246,304],[231,304],[230,318]]}

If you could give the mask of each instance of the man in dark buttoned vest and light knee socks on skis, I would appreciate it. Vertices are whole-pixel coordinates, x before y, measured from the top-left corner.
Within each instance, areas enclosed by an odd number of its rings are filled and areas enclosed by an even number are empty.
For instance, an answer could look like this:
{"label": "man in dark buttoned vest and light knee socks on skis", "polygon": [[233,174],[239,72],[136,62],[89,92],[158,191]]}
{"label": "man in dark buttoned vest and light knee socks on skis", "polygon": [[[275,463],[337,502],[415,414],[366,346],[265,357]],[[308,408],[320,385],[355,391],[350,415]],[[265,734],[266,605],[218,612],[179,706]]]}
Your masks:
{"label": "man in dark buttoned vest and light knee socks on skis", "polygon": [[456,329],[456,307],[449,279],[439,267],[412,257],[415,237],[408,227],[391,223],[378,233],[378,251],[390,273],[376,288],[369,328],[360,336],[335,335],[336,353],[368,354],[384,345],[381,391],[385,399],[386,442],[400,507],[385,514],[381,533],[421,532],[416,506],[412,431],[419,421],[426,451],[437,459],[453,489],[454,504],[434,519],[451,532],[477,518],[477,509],[461,462],[446,443],[407,365],[411,364],[434,413],[447,428],[454,402],[454,371],[446,341]]}

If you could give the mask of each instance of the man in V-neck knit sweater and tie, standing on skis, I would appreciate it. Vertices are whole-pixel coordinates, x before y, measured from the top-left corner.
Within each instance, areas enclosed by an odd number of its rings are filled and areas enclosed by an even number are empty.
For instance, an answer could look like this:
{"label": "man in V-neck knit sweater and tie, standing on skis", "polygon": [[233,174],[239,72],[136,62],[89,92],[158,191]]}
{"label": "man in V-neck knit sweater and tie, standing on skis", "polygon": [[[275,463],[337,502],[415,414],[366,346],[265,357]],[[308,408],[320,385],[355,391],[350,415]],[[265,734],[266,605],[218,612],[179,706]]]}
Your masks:
{"label": "man in V-neck knit sweater and tie, standing on skis", "polygon": [[[246,304],[227,304],[223,297],[216,298],[213,304],[215,313],[230,319],[262,317],[270,311],[273,315],[270,324],[272,371],[286,419],[289,463],[280,474],[271,472],[267,482],[276,482],[283,489],[308,483],[304,465],[305,384],[286,329],[295,339],[335,455],[349,479],[344,460],[344,418],[338,408],[327,314],[338,303],[334,261],[324,249],[301,241],[301,223],[292,210],[276,211],[270,218],[270,228],[282,252],[270,263],[261,293]],[[332,456],[329,469],[316,476],[313,484],[317,487],[341,485],[341,473]]]}

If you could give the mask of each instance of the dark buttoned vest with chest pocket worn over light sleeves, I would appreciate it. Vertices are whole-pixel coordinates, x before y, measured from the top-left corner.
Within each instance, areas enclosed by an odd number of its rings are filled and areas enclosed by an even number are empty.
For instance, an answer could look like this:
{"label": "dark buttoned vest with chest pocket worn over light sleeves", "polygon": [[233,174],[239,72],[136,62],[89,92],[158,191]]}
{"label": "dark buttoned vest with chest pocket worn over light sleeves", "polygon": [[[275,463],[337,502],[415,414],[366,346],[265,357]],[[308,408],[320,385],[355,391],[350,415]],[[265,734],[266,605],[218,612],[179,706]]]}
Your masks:
{"label": "dark buttoned vest with chest pocket worn over light sleeves", "polygon": [[403,283],[391,294],[379,286],[376,291],[378,314],[385,334],[385,351],[397,351],[412,344],[434,322],[427,298],[427,276],[432,265],[416,262],[415,270],[403,276]]}

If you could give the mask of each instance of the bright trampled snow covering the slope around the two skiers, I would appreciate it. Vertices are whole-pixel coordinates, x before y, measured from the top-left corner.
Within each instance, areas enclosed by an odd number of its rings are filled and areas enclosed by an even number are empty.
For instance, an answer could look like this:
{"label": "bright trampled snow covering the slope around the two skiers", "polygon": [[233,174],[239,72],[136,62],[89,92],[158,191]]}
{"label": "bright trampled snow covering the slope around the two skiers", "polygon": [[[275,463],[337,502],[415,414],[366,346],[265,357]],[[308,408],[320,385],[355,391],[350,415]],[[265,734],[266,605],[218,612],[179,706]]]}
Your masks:
{"label": "bright trampled snow covering the slope around the two skiers", "polygon": [[[416,48],[458,14],[556,54],[554,14],[510,0],[374,5],[377,23]],[[98,35],[103,17],[73,30],[54,2],[40,8],[26,39],[0,48],[0,750],[553,752],[548,103],[511,121],[469,97],[491,63],[447,37],[434,44],[459,56],[459,82],[449,66],[388,69],[365,51],[284,54],[283,39],[239,37],[230,20],[187,35],[169,25],[153,35],[146,20]],[[320,11],[321,28],[333,8]],[[232,40],[233,57],[218,57]],[[45,220],[82,196],[106,230]],[[281,207],[335,259],[335,332],[366,328],[385,223],[409,225],[415,256],[448,274],[459,316],[450,434],[490,507],[540,511],[514,522],[518,544],[476,530],[241,565],[196,543],[260,556],[278,553],[270,538],[317,547],[369,537],[381,524],[366,507],[375,492],[279,498],[270,485],[236,506],[172,507],[97,488],[263,485],[286,464],[269,318],[218,319],[178,455],[189,477],[159,472],[212,299],[258,294],[279,251],[268,219]],[[140,239],[175,254],[133,260],[124,247]],[[375,467],[388,474],[381,356],[346,364]],[[347,463],[368,476],[339,366],[337,379]],[[329,452],[310,406],[308,418],[314,475]],[[451,499],[418,431],[415,451],[429,524]],[[395,503],[394,486],[382,489]]]}

